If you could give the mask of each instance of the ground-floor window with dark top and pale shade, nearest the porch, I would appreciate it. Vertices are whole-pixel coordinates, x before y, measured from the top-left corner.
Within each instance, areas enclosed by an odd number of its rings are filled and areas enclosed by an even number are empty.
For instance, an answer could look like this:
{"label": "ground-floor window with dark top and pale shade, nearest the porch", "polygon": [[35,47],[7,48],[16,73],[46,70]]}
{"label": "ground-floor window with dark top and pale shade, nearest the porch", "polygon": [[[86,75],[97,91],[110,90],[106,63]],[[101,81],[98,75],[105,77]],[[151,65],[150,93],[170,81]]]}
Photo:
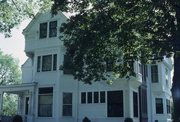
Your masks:
{"label": "ground-floor window with dark top and pale shade, nearest the porch", "polygon": [[38,116],[52,117],[53,88],[39,88]]}

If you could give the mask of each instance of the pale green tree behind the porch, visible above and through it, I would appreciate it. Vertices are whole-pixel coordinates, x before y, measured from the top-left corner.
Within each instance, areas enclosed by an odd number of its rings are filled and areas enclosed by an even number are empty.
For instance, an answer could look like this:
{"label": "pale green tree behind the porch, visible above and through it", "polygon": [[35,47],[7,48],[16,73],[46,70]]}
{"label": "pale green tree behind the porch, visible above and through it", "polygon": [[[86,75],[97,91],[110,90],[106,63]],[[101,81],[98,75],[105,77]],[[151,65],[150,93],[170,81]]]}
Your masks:
{"label": "pale green tree behind the porch, visible above and through it", "polygon": [[[21,73],[18,61],[11,55],[6,55],[0,51],[0,85],[20,83]],[[17,110],[17,96],[4,93],[3,115],[15,115]]]}

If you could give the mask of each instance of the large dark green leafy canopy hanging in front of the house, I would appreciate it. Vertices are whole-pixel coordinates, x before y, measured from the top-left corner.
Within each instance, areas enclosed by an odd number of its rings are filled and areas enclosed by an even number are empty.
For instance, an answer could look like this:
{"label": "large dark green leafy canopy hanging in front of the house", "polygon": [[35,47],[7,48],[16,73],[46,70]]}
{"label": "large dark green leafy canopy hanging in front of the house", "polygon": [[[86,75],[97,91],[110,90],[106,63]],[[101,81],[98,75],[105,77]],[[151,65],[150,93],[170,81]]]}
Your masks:
{"label": "large dark green leafy canopy hanging in front of the house", "polygon": [[176,0],[54,0],[54,13],[76,13],[60,28],[75,78],[91,83],[135,75],[134,61],[169,57],[178,29],[175,5]]}

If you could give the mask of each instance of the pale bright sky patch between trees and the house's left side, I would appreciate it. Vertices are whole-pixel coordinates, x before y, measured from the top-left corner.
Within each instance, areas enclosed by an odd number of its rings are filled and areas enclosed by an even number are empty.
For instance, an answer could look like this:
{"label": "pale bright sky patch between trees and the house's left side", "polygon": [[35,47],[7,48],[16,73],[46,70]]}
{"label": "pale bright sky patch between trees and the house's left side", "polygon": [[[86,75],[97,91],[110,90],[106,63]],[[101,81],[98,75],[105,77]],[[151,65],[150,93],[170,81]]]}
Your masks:
{"label": "pale bright sky patch between trees and the house's left side", "polygon": [[0,34],[0,49],[4,54],[10,54],[14,58],[19,60],[19,66],[21,66],[27,59],[24,53],[25,39],[22,34],[23,29],[28,25],[30,20],[25,20],[12,30],[12,37],[5,38],[3,34]]}

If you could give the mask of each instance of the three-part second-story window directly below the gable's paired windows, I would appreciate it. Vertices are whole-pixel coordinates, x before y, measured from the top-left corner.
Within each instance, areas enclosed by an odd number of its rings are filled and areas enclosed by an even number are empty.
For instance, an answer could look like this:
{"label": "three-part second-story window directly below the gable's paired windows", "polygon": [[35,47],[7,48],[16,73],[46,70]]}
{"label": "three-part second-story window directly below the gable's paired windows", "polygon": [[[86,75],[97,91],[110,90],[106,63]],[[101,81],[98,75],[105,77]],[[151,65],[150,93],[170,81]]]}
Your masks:
{"label": "three-part second-story window directly below the gable's paired windows", "polygon": [[[42,60],[41,60],[42,59]],[[37,72],[55,71],[57,69],[57,54],[37,57]]]}

